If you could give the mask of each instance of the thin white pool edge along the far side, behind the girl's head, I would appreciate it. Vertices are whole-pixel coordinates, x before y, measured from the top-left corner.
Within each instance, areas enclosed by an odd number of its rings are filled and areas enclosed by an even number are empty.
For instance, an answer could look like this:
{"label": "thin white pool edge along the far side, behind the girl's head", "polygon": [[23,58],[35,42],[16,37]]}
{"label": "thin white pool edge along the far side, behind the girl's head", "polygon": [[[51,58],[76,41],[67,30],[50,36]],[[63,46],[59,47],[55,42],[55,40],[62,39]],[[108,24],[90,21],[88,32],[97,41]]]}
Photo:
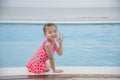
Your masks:
{"label": "thin white pool edge along the far side, behind the girl's head", "polygon": [[120,21],[109,21],[109,20],[106,20],[106,21],[92,21],[92,20],[89,20],[89,21],[24,21],[24,20],[21,20],[21,21],[7,21],[7,20],[0,20],[0,23],[32,23],[32,24],[40,24],[40,23],[62,23],[62,24],[91,24],[91,23],[120,23]]}

